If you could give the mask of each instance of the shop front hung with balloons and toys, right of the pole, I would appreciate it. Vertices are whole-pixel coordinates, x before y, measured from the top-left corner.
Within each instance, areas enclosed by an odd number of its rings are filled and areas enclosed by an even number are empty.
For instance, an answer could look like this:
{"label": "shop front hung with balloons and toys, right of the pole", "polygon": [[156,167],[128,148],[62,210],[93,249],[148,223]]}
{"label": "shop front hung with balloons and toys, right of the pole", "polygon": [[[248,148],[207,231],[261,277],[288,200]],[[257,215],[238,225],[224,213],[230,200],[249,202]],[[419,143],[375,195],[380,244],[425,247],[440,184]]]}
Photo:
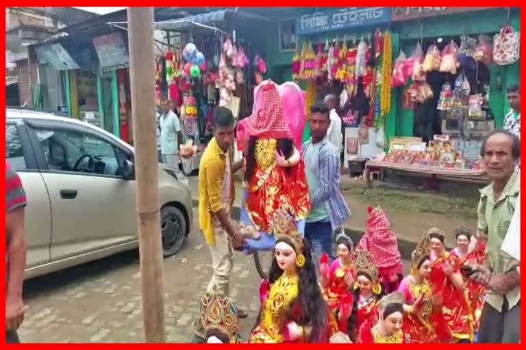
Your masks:
{"label": "shop front hung with balloons and toys, right of the pole", "polygon": [[166,96],[179,114],[187,174],[199,168],[212,138],[214,107],[227,107],[235,120],[251,114],[254,87],[267,75],[264,38],[254,31],[261,21],[253,14],[219,10],[155,23],[177,43],[168,42],[156,58],[155,83],[158,103]]}

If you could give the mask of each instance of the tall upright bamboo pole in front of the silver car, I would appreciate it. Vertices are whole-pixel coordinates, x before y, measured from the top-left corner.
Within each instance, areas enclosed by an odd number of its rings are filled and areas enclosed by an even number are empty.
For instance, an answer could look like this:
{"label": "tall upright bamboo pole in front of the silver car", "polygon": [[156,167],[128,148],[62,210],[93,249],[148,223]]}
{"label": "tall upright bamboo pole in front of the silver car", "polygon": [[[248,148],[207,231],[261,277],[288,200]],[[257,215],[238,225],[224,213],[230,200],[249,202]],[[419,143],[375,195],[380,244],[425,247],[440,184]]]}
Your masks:
{"label": "tall upright bamboo pole in front of the silver car", "polygon": [[142,319],[146,342],[164,342],[164,279],[155,142],[153,8],[128,8],[129,74],[135,140]]}

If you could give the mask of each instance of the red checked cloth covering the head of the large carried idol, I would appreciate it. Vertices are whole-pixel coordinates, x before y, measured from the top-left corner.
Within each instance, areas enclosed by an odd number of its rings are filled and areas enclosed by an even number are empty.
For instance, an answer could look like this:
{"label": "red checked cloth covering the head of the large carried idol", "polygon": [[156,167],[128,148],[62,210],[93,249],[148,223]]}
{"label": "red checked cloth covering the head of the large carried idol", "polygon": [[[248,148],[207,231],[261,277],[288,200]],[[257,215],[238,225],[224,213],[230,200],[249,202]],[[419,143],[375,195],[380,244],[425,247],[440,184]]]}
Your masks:
{"label": "red checked cloth covering the head of the large carried idol", "polygon": [[283,114],[283,102],[273,81],[261,87],[262,103],[251,116],[240,121],[248,137],[292,139],[292,133]]}

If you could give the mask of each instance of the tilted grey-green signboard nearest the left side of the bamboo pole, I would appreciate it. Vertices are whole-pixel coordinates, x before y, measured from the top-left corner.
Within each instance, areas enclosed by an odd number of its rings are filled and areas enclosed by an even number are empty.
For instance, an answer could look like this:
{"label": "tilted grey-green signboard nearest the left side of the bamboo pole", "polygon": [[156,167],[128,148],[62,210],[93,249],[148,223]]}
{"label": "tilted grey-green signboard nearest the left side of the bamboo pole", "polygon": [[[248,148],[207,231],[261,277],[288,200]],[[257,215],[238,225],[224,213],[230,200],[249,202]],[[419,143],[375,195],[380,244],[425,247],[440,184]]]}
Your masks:
{"label": "tilted grey-green signboard nearest the left side of the bamboo pole", "polygon": [[114,32],[93,38],[93,46],[99,56],[103,71],[116,70],[129,66],[128,51],[122,33]]}

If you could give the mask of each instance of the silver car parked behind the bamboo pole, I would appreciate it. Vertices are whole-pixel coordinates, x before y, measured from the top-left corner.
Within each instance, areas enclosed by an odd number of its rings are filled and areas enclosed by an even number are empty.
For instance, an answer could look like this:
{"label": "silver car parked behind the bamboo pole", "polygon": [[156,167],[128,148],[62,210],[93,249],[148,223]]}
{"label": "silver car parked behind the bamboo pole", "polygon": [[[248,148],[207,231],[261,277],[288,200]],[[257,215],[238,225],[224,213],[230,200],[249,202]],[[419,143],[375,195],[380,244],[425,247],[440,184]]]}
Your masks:
{"label": "silver car parked behind the bamboo pole", "polygon": [[[27,195],[25,278],[138,247],[132,146],[86,122],[11,108],[5,141]],[[171,256],[190,232],[192,196],[179,169],[158,167],[163,254]]]}

